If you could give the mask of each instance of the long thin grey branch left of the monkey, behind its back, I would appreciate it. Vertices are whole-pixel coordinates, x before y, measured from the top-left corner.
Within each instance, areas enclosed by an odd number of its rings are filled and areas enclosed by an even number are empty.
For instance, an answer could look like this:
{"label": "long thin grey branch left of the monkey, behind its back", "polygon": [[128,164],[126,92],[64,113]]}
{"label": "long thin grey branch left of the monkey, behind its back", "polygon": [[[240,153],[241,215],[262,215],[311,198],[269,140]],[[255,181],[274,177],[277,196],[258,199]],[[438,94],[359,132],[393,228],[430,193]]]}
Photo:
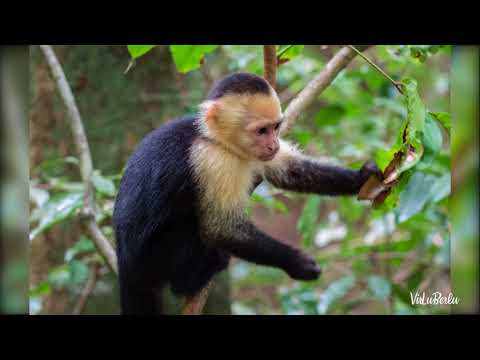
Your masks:
{"label": "long thin grey branch left of the monkey, behind its back", "polygon": [[82,218],[85,220],[88,232],[95,242],[99,253],[104,257],[110,268],[115,273],[118,273],[115,250],[113,249],[110,241],[105,237],[105,235],[103,235],[95,221],[95,201],[93,184],[91,180],[93,173],[92,156],[90,154],[90,148],[88,146],[80,112],[78,111],[75,98],[70,86],[68,85],[65,73],[63,72],[62,66],[53,52],[53,49],[50,47],[50,45],[40,45],[40,48],[45,55],[45,59],[50,67],[50,71],[52,72],[58,91],[60,92],[60,96],[68,110],[70,128],[72,130],[73,139],[75,141],[78,157],[80,159],[80,173],[84,185]]}

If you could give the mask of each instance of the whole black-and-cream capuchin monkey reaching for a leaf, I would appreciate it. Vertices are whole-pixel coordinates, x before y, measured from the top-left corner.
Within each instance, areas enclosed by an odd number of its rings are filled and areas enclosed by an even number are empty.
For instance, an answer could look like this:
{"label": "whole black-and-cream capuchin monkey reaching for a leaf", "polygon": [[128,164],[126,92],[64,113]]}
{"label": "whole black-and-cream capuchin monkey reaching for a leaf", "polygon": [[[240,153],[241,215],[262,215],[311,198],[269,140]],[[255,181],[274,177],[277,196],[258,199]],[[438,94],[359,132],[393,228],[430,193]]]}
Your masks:
{"label": "whole black-and-cream capuchin monkey reaching for a leaf", "polygon": [[159,314],[158,293],[192,296],[231,256],[315,280],[320,268],[245,215],[263,180],[302,193],[355,195],[372,174],[323,164],[278,137],[282,111],[261,77],[221,79],[196,116],[170,121],[138,145],[121,180],[113,222],[122,314]]}

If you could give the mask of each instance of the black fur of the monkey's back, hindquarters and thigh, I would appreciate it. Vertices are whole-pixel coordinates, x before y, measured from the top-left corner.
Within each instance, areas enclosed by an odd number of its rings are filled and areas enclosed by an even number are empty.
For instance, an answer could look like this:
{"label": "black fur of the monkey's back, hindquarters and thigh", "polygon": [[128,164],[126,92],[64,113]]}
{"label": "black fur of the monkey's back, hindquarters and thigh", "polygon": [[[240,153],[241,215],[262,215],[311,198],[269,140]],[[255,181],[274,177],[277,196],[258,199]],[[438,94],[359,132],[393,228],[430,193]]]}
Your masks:
{"label": "black fur of the monkey's back, hindquarters and thigh", "polygon": [[156,290],[170,284],[177,295],[193,295],[228,265],[230,256],[198,235],[188,163],[194,121],[160,126],[128,160],[113,214],[123,314],[159,313]]}

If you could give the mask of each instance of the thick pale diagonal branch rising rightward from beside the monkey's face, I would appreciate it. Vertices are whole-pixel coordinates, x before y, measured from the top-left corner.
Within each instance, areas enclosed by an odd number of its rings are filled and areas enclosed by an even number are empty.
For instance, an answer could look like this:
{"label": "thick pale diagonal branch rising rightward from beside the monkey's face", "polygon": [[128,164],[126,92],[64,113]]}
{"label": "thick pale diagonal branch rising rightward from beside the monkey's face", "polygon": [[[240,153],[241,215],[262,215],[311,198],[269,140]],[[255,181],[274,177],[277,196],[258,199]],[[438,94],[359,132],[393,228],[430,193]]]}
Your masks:
{"label": "thick pale diagonal branch rising rightward from beside the monkey's face", "polygon": [[[362,45],[366,49],[368,45]],[[285,125],[281,133],[287,133],[294,124],[294,121],[305,110],[315,98],[322,93],[335,79],[335,77],[353,60],[357,53],[348,46],[343,47],[323,70],[290,102],[284,113]]]}

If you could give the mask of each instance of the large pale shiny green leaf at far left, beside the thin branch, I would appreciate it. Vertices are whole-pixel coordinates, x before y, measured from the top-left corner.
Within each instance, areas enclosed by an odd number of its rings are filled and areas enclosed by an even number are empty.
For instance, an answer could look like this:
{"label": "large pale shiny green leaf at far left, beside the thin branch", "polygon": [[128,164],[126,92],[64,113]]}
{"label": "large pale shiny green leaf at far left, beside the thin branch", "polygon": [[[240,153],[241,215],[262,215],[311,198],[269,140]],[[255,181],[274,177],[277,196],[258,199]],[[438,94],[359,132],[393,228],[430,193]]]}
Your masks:
{"label": "large pale shiny green leaf at far left, beside the thin branch", "polygon": [[30,232],[30,240],[53,225],[71,218],[83,205],[83,192],[58,194],[47,201],[37,213],[38,226]]}

